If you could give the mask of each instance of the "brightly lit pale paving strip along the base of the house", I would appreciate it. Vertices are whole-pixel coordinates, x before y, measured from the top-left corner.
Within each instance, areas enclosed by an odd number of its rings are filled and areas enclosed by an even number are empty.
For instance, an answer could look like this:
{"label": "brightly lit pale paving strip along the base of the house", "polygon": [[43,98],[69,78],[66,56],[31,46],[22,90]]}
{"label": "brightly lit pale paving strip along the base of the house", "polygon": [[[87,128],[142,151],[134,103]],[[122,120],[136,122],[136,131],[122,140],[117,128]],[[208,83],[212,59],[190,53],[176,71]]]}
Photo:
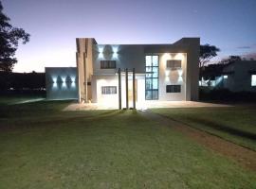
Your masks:
{"label": "brightly lit pale paving strip along the base of the house", "polygon": [[[130,103],[132,105],[132,103]],[[202,107],[230,107],[225,104],[213,104],[195,101],[146,101],[137,103],[137,110],[156,108],[202,108]],[[90,110],[117,110],[118,104],[97,104],[97,103],[73,103],[67,106],[64,111],[90,111]]]}

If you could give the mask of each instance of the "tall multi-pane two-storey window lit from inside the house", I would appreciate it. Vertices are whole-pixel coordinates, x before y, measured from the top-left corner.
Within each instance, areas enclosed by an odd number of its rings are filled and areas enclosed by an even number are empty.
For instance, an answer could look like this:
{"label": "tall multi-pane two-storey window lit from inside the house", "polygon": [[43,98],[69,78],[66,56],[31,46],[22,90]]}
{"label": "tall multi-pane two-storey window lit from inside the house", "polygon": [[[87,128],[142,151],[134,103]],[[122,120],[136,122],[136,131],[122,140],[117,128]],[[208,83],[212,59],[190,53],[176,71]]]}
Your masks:
{"label": "tall multi-pane two-storey window lit from inside the house", "polygon": [[146,56],[145,98],[158,99],[158,56]]}

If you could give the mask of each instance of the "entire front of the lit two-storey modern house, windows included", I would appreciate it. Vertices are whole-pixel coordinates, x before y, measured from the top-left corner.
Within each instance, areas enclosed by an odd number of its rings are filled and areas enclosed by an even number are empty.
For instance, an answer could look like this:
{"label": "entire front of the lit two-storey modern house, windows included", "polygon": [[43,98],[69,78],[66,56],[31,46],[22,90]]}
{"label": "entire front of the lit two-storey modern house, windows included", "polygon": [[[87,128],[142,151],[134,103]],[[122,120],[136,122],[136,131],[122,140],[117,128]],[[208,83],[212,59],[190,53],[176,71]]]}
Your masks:
{"label": "entire front of the lit two-storey modern house, windows included", "polygon": [[124,107],[132,101],[198,100],[199,38],[170,44],[98,44],[78,38],[76,43],[80,102]]}

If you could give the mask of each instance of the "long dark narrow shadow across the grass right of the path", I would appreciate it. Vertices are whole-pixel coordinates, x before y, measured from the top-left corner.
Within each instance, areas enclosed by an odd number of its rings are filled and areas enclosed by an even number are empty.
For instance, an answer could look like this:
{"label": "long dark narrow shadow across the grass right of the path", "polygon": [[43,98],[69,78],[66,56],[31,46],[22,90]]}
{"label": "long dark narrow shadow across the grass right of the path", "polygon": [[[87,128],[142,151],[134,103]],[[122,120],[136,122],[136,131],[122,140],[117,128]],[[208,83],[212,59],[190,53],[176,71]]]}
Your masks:
{"label": "long dark narrow shadow across the grass right of the path", "polygon": [[245,130],[230,128],[229,126],[226,126],[217,122],[212,122],[210,120],[200,119],[196,117],[188,117],[188,119],[194,123],[200,124],[200,126],[206,126],[212,129],[227,132],[232,135],[244,137],[254,141],[256,140],[256,134],[247,132]]}

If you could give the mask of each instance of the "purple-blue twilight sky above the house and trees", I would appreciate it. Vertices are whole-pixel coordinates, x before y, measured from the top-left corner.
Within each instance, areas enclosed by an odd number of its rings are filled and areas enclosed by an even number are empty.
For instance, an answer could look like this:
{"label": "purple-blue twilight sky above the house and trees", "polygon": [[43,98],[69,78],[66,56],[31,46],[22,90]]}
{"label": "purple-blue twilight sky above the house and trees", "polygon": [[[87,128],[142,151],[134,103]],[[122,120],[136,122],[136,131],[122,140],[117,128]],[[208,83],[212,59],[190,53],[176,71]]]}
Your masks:
{"label": "purple-blue twilight sky above the house and trees", "polygon": [[217,59],[256,55],[256,0],[2,0],[13,26],[26,29],[16,72],[75,66],[76,37],[98,43],[174,43],[200,37]]}

